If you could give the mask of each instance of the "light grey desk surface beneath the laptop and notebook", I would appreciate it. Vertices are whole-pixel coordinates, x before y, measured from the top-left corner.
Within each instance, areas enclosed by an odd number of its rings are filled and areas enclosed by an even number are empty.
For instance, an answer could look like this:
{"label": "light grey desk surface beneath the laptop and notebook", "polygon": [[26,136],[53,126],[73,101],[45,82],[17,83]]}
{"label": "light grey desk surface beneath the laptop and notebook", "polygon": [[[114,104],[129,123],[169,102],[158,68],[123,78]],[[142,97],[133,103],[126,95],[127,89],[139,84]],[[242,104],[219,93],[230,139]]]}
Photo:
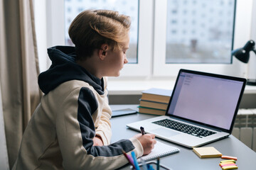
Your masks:
{"label": "light grey desk surface beneath the laptop and notebook", "polygon": [[[122,108],[133,108],[137,109],[134,105],[122,105],[122,106],[111,106],[112,110],[122,109]],[[133,115],[125,115],[116,118],[112,118],[112,141],[117,142],[122,139],[129,139],[133,137],[138,132],[135,130],[131,130],[126,127],[128,123],[132,123],[138,120],[144,120],[146,118],[152,118],[155,115],[146,115],[146,114],[133,114]],[[218,170],[221,169],[218,165],[220,163],[220,158],[199,158],[192,149],[188,149],[186,147],[182,147],[180,145],[176,145],[171,142],[167,142],[165,140],[161,140],[156,138],[161,142],[166,144],[178,147],[181,151],[178,154],[172,154],[167,157],[162,157],[160,159],[161,164],[169,167],[173,170],[184,170],[184,169],[208,169],[208,170]],[[235,138],[233,135],[230,135],[228,138],[223,140],[219,140],[217,142],[210,143],[208,145],[204,145],[203,147],[215,147],[220,151],[223,155],[238,157],[237,165],[238,169],[256,169],[256,152],[252,149],[244,145],[240,140]],[[124,167],[123,169],[129,169],[129,166]]]}

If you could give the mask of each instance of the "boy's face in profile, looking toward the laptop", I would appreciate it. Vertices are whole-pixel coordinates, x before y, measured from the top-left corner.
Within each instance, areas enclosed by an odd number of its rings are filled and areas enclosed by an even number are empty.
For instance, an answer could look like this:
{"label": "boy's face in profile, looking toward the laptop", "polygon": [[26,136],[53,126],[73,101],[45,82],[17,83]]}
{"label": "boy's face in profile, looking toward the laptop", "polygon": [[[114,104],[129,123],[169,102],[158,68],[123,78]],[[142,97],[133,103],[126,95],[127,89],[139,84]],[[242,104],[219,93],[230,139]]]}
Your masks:
{"label": "boy's face in profile, looking toward the laptop", "polygon": [[105,76],[118,77],[124,64],[127,64],[128,60],[126,52],[129,49],[129,38],[122,44],[122,50],[109,50],[106,56],[106,69]]}

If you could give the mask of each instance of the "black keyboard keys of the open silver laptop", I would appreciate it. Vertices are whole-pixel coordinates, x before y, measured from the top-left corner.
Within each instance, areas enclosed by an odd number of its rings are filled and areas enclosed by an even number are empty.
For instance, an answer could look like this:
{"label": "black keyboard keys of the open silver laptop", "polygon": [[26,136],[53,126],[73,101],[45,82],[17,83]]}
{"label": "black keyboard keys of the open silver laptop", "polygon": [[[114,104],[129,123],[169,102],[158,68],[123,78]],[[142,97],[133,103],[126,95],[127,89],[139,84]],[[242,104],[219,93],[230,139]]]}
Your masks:
{"label": "black keyboard keys of the open silver laptop", "polygon": [[176,122],[174,120],[169,120],[169,119],[163,119],[163,120],[158,120],[155,122],[152,122],[157,125],[164,126],[166,128],[170,128],[173,130],[178,130],[179,132],[185,132],[189,135],[193,135],[196,137],[207,137],[209,135],[213,135],[216,132],[210,131],[210,130],[205,130],[202,128],[197,128],[192,125],[187,125],[185,123],[180,123]]}

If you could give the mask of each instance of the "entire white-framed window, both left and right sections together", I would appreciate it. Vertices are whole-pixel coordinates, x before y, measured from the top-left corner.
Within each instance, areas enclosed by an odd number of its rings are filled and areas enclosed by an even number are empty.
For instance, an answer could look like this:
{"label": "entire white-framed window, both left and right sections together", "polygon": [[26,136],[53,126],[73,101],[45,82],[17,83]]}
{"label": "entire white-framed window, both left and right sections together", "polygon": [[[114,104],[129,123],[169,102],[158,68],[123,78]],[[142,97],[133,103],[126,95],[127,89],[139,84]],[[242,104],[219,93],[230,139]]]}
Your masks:
{"label": "entire white-framed window, both left and right sections together", "polygon": [[[256,8],[252,0],[65,1],[66,4],[63,0],[46,0],[47,19],[36,18],[41,28],[47,26],[44,33],[37,30],[38,42],[47,38],[47,47],[70,44],[68,25],[85,8],[111,8],[132,17],[130,64],[124,67],[119,79],[176,77],[181,68],[241,77],[247,75],[247,65],[232,60],[230,52],[232,48],[245,45],[255,34],[251,30],[252,8]],[[35,3],[42,4],[43,1]],[[38,5],[35,11],[42,11],[42,7]]]}

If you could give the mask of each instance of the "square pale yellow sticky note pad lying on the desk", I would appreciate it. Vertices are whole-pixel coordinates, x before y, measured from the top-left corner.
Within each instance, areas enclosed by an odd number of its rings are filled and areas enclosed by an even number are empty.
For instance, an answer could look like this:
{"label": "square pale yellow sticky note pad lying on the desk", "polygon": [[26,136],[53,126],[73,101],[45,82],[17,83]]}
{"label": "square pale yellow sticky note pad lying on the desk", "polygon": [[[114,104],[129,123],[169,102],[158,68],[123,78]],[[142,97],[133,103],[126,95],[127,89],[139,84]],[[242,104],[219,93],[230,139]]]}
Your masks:
{"label": "square pale yellow sticky note pad lying on the desk", "polygon": [[194,147],[193,152],[200,158],[221,157],[222,155],[215,147]]}

